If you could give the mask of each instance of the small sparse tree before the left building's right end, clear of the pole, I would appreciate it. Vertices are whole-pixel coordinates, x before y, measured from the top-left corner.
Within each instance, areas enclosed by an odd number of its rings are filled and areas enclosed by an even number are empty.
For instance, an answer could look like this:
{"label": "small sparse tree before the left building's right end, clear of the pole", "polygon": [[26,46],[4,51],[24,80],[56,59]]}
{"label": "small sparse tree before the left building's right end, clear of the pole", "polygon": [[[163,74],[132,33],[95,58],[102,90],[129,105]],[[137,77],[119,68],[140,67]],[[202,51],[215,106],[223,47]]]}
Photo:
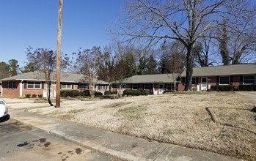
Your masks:
{"label": "small sparse tree before the left building's right end, clear of the pole", "polygon": [[100,47],[93,47],[92,49],[82,50],[78,49],[77,53],[73,53],[76,56],[75,68],[80,70],[81,74],[84,74],[84,78],[89,78],[89,94],[94,98],[94,88],[97,83],[98,71],[104,62],[104,54],[100,51]]}

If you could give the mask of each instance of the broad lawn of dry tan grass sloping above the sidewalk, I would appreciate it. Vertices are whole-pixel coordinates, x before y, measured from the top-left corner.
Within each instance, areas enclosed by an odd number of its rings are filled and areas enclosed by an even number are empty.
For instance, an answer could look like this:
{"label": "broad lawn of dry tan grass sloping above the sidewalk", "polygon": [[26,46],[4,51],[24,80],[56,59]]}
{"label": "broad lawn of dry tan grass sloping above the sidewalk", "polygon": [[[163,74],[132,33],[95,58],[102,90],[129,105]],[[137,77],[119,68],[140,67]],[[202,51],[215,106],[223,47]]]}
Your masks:
{"label": "broad lawn of dry tan grass sloping above the sidewalk", "polygon": [[[10,108],[15,103],[10,104]],[[13,106],[15,107],[15,106]],[[19,107],[22,107],[21,105]],[[62,100],[27,111],[139,138],[256,160],[256,113],[233,92]]]}

